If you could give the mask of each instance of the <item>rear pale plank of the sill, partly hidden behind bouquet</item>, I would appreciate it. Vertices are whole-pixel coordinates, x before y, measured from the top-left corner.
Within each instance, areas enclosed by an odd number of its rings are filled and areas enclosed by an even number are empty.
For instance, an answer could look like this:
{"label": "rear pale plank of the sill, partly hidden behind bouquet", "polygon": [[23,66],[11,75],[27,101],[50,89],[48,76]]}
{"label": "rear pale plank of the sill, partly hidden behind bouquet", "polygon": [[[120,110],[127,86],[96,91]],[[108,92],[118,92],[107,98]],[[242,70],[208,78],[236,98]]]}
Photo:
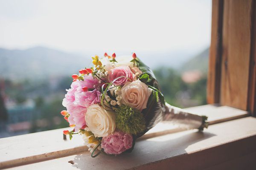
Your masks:
{"label": "rear pale plank of the sill, partly hidden behind bouquet", "polygon": [[[247,116],[246,111],[227,106],[204,105],[187,109],[198,114],[209,116],[210,124]],[[87,150],[81,136],[75,135],[71,141],[69,141],[69,139],[65,141],[62,138],[62,130],[64,129],[0,139],[0,153],[2,153],[0,154],[0,168],[46,161]],[[140,140],[184,130],[186,129],[160,122],[142,136]]]}

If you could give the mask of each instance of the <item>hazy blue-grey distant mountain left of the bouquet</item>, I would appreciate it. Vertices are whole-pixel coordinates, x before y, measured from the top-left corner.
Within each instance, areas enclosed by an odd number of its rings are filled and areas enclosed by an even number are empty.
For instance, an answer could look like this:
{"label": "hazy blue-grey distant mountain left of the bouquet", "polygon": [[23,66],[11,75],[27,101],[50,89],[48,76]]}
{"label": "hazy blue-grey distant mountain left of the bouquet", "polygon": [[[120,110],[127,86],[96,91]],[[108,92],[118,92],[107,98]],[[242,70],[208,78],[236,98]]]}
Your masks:
{"label": "hazy blue-grey distant mountain left of the bouquet", "polygon": [[42,79],[57,75],[72,75],[88,65],[90,57],[58,50],[35,47],[27,50],[0,48],[0,77],[11,79]]}

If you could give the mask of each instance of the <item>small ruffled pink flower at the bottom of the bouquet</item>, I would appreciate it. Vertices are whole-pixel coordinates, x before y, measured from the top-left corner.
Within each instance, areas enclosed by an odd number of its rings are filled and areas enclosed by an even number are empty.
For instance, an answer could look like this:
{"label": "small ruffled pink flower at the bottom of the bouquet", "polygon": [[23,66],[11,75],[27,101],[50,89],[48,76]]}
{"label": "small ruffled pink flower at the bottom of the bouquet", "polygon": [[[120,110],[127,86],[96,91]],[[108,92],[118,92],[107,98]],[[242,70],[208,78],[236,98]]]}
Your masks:
{"label": "small ruffled pink flower at the bottom of the bouquet", "polygon": [[101,147],[107,154],[118,155],[132,147],[133,137],[128,133],[122,133],[115,130],[113,134],[109,134],[102,138]]}

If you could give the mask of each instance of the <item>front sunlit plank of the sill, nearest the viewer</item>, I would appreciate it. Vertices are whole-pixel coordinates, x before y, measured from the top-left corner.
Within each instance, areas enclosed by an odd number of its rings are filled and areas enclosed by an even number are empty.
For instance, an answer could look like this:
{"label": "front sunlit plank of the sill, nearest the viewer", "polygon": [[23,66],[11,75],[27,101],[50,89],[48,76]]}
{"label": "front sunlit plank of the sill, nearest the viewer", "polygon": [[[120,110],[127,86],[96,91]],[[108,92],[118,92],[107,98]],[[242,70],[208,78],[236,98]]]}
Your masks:
{"label": "front sunlit plank of the sill, nearest the viewer", "polygon": [[[132,153],[119,156],[101,154],[92,159],[88,152],[83,152],[13,169],[198,170],[221,168],[221,164],[230,169],[233,166],[225,162],[254,155],[255,142],[256,118],[247,117],[212,125],[204,133],[187,130],[139,141]],[[242,163],[237,162],[237,166]],[[255,166],[253,159],[247,163]]]}

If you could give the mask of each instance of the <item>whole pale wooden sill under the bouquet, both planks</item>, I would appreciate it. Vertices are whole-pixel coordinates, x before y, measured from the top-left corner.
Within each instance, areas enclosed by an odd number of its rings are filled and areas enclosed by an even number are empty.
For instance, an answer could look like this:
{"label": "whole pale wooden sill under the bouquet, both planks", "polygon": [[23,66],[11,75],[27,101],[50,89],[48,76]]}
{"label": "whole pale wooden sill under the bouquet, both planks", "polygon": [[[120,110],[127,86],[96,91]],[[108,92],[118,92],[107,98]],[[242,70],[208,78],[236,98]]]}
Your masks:
{"label": "whole pale wooden sill under the bouquet, both planks", "polygon": [[13,136],[0,139],[0,169],[256,169],[256,118],[227,106],[187,109],[207,115],[208,129],[198,132],[160,122],[136,142],[132,153],[96,158],[90,157],[81,136],[63,140],[64,129]]}

